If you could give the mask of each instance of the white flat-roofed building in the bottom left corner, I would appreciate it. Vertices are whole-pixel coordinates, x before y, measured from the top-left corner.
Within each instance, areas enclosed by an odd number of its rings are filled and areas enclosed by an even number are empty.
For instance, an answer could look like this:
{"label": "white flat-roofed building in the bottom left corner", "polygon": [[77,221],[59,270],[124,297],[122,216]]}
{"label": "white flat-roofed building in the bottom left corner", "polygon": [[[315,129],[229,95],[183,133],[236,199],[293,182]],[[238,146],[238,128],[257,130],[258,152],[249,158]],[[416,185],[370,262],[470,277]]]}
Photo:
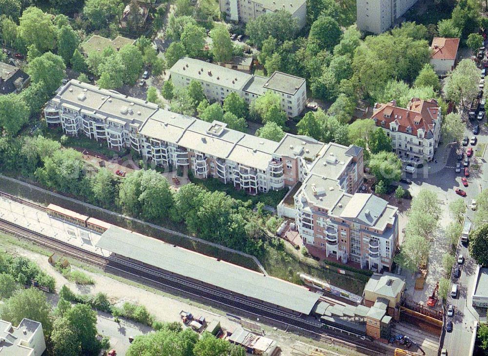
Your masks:
{"label": "white flat-roofed building in the bottom left corner", "polygon": [[0,355],[41,356],[46,350],[40,322],[22,319],[18,327],[0,320]]}

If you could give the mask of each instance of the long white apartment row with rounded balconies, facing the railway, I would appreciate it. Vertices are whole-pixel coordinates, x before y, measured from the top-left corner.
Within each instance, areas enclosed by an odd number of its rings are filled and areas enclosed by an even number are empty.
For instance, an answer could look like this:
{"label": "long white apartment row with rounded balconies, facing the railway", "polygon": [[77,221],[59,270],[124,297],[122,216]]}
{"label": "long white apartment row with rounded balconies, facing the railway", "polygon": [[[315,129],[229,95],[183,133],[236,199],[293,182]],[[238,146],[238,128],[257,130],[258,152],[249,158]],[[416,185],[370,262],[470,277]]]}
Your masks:
{"label": "long white apartment row with rounded balconies, facing the railway", "polygon": [[189,167],[198,178],[219,178],[251,194],[295,185],[324,146],[295,135],[281,142],[258,138],[77,80],[46,104],[44,116],[67,135],[132,148],[158,165]]}

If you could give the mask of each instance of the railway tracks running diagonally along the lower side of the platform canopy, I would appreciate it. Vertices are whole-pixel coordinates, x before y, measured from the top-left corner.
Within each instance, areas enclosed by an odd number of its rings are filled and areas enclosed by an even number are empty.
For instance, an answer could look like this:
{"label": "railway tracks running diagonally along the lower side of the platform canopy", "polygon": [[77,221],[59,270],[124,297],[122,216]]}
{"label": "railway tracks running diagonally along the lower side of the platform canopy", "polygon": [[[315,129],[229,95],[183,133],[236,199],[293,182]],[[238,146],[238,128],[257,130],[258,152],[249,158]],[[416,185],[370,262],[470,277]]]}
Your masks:
{"label": "railway tracks running diagonally along the lower side of the platform canopy", "polygon": [[[35,204],[34,204],[35,205]],[[272,322],[279,323],[289,328],[292,327],[300,333],[305,333],[321,341],[338,342],[349,348],[367,355],[388,355],[391,350],[378,343],[371,343],[356,337],[346,337],[339,332],[325,331],[317,321],[310,321],[310,317],[296,316],[286,313],[277,308],[264,306],[263,304],[251,301],[241,296],[232,295],[225,291],[212,289],[210,286],[203,286],[184,277],[172,275],[154,267],[142,265],[141,263],[122,260],[117,257],[103,257],[96,253],[83,250],[67,242],[48,237],[31,231],[23,226],[11,223],[0,218],[0,230],[6,233],[22,237],[48,248],[60,251],[63,254],[81,259],[85,262],[98,265],[104,269],[116,271],[119,274],[136,277],[146,280],[157,286],[176,290],[185,295],[205,299],[218,303],[233,310],[239,310],[247,315],[254,315],[266,318]]]}

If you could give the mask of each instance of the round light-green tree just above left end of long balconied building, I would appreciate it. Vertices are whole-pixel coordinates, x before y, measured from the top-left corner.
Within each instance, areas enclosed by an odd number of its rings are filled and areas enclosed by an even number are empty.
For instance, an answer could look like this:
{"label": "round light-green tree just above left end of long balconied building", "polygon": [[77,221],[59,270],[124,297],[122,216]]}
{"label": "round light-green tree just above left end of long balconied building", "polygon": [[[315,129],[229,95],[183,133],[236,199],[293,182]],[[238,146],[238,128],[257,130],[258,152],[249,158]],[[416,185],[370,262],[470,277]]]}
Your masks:
{"label": "round light-green tree just above left end of long balconied building", "polygon": [[46,94],[51,95],[61,85],[65,69],[66,66],[60,56],[46,52],[29,63],[27,73],[31,77],[31,82],[42,81]]}

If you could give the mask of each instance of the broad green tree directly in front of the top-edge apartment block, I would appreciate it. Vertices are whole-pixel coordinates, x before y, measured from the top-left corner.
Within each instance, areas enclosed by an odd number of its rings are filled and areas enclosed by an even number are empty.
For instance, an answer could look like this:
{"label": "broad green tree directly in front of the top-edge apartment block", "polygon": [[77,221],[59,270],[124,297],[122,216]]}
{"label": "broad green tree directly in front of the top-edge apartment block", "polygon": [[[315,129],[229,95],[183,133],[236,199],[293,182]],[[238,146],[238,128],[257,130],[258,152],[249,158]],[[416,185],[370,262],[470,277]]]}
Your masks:
{"label": "broad green tree directly in front of the top-edge apartment block", "polygon": [[248,21],[245,28],[245,34],[258,48],[270,36],[278,43],[283,43],[295,38],[297,32],[297,19],[286,10],[266,12],[255,20]]}

